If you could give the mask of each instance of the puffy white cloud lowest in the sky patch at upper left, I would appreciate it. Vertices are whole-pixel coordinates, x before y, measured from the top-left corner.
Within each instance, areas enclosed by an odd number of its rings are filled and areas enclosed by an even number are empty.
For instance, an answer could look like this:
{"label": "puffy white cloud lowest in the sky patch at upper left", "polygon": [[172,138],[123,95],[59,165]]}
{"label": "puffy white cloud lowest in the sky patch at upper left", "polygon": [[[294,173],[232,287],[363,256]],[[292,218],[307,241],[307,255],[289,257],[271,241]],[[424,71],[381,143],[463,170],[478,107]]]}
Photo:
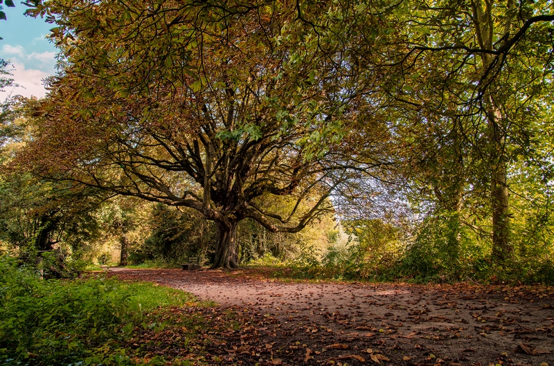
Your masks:
{"label": "puffy white cloud lowest in the sky patch at upper left", "polygon": [[0,100],[4,100],[8,95],[17,94],[25,97],[35,96],[37,98],[42,98],[46,95],[42,79],[48,77],[48,73],[33,68],[26,69],[24,64],[17,61],[12,62],[12,64],[12,78],[19,86],[0,92]]}

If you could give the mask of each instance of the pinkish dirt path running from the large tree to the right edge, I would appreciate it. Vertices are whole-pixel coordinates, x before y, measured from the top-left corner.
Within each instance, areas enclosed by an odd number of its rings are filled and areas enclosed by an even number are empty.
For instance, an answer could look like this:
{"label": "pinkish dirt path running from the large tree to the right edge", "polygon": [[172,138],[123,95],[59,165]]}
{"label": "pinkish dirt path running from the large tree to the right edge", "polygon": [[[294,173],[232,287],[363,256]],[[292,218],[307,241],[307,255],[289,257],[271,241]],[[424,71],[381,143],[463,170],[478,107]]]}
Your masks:
{"label": "pinkish dirt path running from the large tree to the right edge", "polygon": [[[292,333],[303,329],[309,335],[310,329],[327,327],[332,333],[366,336],[368,342],[379,338],[379,344],[392,341],[410,351],[419,347],[463,365],[495,363],[506,352],[514,364],[554,366],[552,288],[285,283],[259,278],[248,268],[110,268],[109,273],[182,289],[222,306],[266,313]],[[535,349],[537,355],[525,349]]]}

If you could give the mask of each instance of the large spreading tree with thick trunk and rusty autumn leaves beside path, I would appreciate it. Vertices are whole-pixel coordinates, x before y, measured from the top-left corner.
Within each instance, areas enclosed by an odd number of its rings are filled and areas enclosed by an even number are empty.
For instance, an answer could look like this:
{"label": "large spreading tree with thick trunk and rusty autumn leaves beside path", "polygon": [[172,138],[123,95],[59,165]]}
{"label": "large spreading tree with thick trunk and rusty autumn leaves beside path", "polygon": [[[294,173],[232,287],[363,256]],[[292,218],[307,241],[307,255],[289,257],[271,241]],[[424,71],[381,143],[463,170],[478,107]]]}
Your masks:
{"label": "large spreading tree with thick trunk and rusty autumn leaves beside path", "polygon": [[[350,172],[379,164],[345,145],[355,139],[344,136],[357,118],[352,79],[332,42],[319,52],[308,10],[324,8],[44,2],[34,11],[57,24],[60,75],[19,161],[42,176],[194,208],[217,226],[213,266],[238,266],[239,221],[297,232],[331,209],[328,196]],[[292,210],[267,211],[284,196],[296,200]]]}

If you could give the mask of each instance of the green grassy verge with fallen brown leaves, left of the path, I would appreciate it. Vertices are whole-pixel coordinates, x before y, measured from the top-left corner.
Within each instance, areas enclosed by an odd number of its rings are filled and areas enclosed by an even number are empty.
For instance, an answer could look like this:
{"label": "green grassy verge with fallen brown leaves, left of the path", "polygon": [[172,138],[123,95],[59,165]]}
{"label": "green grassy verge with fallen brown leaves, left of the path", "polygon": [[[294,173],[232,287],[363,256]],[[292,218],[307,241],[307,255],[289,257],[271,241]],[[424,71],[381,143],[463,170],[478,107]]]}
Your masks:
{"label": "green grassy verge with fallen brown leaves, left of the path", "polygon": [[206,322],[183,309],[199,305],[188,293],[146,282],[40,280],[3,258],[0,365],[164,365],[152,335],[172,328],[186,345]]}

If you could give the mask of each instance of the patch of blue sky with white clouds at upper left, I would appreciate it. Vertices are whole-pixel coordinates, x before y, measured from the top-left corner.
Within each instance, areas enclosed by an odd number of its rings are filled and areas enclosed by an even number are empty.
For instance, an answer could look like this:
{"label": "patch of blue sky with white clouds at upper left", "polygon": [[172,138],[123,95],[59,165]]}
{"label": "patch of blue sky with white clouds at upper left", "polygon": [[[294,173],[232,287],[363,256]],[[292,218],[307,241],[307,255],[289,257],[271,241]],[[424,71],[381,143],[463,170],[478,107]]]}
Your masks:
{"label": "patch of blue sky with white clouds at upper left", "polygon": [[53,24],[44,19],[25,17],[26,6],[15,2],[15,8],[3,7],[8,20],[0,20],[0,58],[11,62],[10,72],[19,87],[0,92],[0,100],[9,94],[26,97],[44,96],[42,79],[55,71],[56,49],[45,37]]}

